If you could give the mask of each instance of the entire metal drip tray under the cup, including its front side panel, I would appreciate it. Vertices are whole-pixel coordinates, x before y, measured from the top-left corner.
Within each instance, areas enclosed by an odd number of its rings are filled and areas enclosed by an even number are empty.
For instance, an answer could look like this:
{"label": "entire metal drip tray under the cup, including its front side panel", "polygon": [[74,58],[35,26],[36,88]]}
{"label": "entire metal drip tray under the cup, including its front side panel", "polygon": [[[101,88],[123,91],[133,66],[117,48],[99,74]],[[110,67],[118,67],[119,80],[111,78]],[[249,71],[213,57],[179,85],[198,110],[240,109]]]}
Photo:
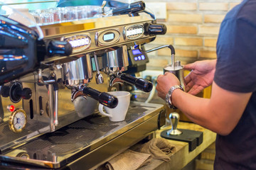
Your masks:
{"label": "entire metal drip tray under the cup, including its front side panel", "polygon": [[[117,123],[95,113],[4,152],[0,155],[0,160],[48,169],[60,169],[63,166],[81,166],[82,169],[87,166],[86,169],[89,169],[111,157],[114,152],[134,145],[149,132],[156,130],[159,113],[163,110],[164,106],[159,104],[131,102],[126,119]],[[143,125],[144,123],[146,124]],[[131,131],[134,128],[137,130]],[[112,145],[114,149],[109,148]],[[82,157],[85,157],[84,161],[77,160]]]}

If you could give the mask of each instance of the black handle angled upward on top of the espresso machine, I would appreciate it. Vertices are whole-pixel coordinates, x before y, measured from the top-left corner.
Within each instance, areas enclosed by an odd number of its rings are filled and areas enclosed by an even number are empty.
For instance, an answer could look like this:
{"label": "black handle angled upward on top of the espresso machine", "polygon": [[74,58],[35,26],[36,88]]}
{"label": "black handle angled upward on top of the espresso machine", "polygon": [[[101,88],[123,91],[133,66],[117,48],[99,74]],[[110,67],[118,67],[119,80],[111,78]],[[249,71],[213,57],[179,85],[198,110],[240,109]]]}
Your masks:
{"label": "black handle angled upward on top of the espresso machine", "polygon": [[138,13],[144,11],[146,5],[144,1],[137,1],[132,4],[126,4],[118,8],[114,8],[112,11],[113,16],[128,14],[128,13]]}

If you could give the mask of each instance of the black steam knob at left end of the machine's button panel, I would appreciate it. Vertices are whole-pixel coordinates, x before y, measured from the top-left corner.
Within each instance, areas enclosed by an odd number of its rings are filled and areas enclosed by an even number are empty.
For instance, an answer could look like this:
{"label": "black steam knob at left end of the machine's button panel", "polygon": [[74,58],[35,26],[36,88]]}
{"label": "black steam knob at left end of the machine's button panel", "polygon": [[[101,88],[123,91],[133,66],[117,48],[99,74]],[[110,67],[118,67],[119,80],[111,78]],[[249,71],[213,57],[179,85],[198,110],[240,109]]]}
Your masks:
{"label": "black steam knob at left end of the machine's button panel", "polygon": [[55,55],[68,56],[72,54],[72,46],[70,42],[50,40],[47,45],[47,52],[50,57]]}

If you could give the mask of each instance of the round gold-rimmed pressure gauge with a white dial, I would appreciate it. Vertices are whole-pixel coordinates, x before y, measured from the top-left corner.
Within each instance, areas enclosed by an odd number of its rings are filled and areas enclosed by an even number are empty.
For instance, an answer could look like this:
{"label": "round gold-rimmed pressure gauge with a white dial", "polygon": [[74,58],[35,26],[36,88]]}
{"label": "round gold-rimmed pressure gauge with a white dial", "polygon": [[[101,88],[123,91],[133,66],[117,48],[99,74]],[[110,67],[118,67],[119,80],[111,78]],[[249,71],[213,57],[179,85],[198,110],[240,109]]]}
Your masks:
{"label": "round gold-rimmed pressure gauge with a white dial", "polygon": [[26,112],[19,108],[11,113],[9,118],[9,128],[14,132],[21,132],[26,126]]}

